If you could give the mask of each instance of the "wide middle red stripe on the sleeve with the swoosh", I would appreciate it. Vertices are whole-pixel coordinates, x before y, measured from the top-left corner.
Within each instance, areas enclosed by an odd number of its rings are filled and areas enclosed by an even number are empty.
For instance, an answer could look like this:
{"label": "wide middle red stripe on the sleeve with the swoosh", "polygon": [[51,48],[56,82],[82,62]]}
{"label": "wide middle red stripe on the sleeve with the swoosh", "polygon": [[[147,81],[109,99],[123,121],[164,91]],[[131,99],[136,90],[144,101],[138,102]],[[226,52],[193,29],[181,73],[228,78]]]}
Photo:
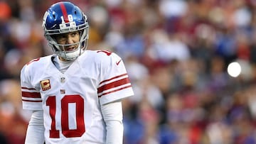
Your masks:
{"label": "wide middle red stripe on the sleeve with the swoosh", "polygon": [[121,85],[123,85],[123,84],[129,84],[129,79],[128,79],[128,77],[126,77],[126,78],[124,78],[124,79],[119,79],[119,80],[114,81],[114,82],[110,82],[109,84],[105,84],[105,85],[103,85],[102,87],[99,87],[99,88],[97,89],[97,93],[99,94],[99,93],[101,93],[101,92],[103,92],[103,91],[105,91],[105,90],[107,90],[107,89],[112,89],[112,88],[114,88],[114,87],[119,87],[119,86],[121,86]]}

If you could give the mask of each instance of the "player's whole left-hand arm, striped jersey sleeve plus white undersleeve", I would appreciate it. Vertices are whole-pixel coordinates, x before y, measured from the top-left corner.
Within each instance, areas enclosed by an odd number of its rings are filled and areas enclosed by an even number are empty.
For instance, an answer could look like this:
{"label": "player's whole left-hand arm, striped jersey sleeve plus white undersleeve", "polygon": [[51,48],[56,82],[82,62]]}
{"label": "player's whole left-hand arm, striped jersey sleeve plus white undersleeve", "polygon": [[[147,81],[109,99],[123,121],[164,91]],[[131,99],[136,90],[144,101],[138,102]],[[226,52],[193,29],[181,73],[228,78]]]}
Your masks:
{"label": "player's whole left-hand arm, striped jersey sleeve plus white undersleeve", "polygon": [[36,86],[31,84],[34,77],[34,71],[39,59],[31,60],[21,70],[21,97],[23,109],[33,111],[31,120],[28,123],[26,131],[25,144],[43,144],[44,127],[43,127],[43,109],[41,94]]}

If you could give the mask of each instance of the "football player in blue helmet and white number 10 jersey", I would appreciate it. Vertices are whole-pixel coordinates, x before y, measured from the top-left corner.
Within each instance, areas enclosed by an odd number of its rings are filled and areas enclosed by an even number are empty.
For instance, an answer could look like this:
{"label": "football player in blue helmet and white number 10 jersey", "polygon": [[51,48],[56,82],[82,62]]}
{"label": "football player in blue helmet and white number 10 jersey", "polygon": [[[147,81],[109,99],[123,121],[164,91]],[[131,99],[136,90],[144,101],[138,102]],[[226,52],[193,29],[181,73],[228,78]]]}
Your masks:
{"label": "football player in blue helmet and white number 10 jersey", "polygon": [[26,144],[122,143],[122,99],[134,94],[122,59],[86,50],[87,16],[62,1],[43,16],[54,54],[21,70],[23,109],[33,111]]}

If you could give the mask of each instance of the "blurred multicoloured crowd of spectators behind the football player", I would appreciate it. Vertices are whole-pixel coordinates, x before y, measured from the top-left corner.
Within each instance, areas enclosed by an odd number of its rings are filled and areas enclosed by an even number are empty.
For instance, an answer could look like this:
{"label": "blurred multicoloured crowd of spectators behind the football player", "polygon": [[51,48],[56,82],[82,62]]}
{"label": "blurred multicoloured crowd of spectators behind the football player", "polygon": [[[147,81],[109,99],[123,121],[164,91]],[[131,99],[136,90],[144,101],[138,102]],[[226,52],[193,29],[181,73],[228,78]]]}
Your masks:
{"label": "blurred multicoloured crowd of spectators behind the football player", "polygon": [[[56,0],[0,1],[0,143],[24,142],[19,73],[51,54],[41,28]],[[256,144],[255,0],[73,0],[90,50],[116,52],[135,95],[125,144]],[[230,77],[227,67],[242,72]]]}

